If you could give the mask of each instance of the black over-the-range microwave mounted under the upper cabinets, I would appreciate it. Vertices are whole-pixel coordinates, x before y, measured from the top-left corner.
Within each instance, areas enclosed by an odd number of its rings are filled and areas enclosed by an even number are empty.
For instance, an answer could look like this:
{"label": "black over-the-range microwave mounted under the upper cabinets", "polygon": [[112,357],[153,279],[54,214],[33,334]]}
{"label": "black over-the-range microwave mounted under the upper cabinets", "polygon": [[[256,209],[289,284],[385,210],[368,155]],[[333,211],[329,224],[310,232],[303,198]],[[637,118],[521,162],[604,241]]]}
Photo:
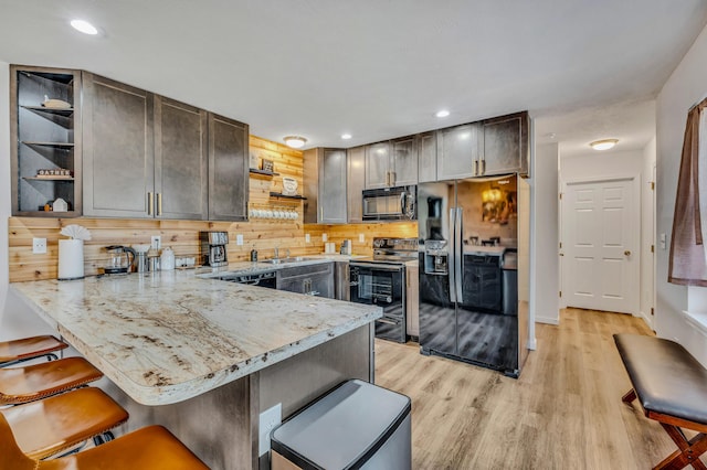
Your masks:
{"label": "black over-the-range microwave mounted under the upper cabinets", "polygon": [[416,185],[363,190],[363,220],[414,221],[416,200]]}

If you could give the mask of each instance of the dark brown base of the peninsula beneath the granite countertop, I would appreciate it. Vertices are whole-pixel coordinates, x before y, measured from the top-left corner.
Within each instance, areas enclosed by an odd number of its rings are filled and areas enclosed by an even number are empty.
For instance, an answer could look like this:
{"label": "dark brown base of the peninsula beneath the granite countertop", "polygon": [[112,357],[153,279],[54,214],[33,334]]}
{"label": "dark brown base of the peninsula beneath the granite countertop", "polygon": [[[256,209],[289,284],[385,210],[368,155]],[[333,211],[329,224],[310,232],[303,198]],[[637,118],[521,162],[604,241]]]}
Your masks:
{"label": "dark brown base of the peninsula beneath the granite countertop", "polygon": [[283,419],[349,378],[372,382],[372,325],[300,352],[184,402],[145,406],[115,384],[105,388],[130,414],[120,432],[160,424],[212,469],[270,468],[258,458],[260,414],[282,403]]}

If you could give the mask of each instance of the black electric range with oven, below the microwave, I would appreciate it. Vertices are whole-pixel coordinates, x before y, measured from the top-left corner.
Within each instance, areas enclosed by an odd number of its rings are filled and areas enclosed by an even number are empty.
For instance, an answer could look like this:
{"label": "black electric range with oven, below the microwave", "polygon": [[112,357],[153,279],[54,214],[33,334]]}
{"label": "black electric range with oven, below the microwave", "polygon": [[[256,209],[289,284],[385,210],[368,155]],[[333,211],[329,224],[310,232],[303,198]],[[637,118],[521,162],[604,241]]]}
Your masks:
{"label": "black electric range with oven, below the microwave", "polygon": [[405,263],[418,257],[416,238],[373,238],[373,257],[349,264],[350,300],[383,308],[376,337],[404,343]]}

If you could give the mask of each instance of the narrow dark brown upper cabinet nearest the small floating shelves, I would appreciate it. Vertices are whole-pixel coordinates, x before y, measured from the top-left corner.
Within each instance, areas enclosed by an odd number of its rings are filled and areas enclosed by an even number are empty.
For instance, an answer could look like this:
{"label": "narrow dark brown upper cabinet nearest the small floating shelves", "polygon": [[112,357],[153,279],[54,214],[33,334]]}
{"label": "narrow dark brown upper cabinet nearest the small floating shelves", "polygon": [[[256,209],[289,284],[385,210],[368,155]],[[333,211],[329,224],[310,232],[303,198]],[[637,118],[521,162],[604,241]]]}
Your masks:
{"label": "narrow dark brown upper cabinet nearest the small floating shelves", "polygon": [[209,220],[246,221],[249,126],[209,113]]}

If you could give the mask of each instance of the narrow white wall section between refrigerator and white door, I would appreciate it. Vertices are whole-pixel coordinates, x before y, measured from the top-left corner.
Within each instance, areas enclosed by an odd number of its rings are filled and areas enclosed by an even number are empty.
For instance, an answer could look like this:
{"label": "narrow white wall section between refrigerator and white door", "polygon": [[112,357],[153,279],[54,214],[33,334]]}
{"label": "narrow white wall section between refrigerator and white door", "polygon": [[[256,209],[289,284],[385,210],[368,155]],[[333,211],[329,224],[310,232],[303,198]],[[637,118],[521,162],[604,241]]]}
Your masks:
{"label": "narrow white wall section between refrigerator and white door", "polygon": [[558,158],[557,143],[538,146],[535,149],[532,169],[535,201],[535,258],[531,266],[535,320],[558,324],[559,257],[558,257]]}

